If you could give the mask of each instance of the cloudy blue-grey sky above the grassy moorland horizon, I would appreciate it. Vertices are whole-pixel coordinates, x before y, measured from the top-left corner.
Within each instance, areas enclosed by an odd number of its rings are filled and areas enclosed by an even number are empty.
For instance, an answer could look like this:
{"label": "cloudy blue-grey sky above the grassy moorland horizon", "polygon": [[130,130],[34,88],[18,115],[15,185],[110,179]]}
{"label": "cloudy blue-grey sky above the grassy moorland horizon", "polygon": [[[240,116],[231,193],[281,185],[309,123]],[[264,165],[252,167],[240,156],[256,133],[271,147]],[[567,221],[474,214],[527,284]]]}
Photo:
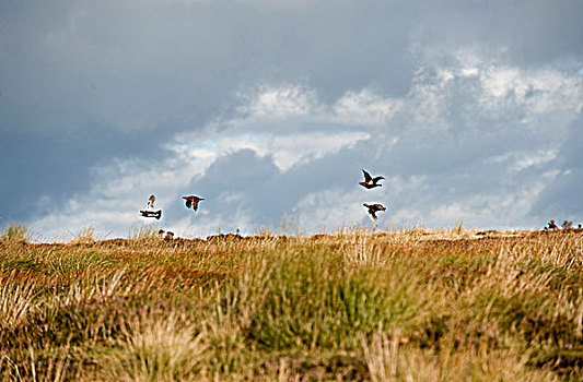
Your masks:
{"label": "cloudy blue-grey sky above the grassy moorland horizon", "polygon": [[579,0],[0,0],[0,226],[308,235],[372,227],[362,203],[383,230],[583,223],[581,20]]}

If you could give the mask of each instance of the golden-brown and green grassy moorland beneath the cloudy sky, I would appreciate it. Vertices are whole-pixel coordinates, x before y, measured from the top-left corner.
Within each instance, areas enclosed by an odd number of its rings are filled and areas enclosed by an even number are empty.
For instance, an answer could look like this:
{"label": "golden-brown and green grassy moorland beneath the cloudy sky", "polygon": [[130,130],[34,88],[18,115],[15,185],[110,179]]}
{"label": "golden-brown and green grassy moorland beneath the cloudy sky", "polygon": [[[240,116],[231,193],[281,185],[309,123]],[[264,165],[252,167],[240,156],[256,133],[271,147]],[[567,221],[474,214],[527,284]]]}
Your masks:
{"label": "golden-brown and green grassy moorland beneath the cloudy sky", "polygon": [[583,234],[0,239],[0,375],[583,379]]}

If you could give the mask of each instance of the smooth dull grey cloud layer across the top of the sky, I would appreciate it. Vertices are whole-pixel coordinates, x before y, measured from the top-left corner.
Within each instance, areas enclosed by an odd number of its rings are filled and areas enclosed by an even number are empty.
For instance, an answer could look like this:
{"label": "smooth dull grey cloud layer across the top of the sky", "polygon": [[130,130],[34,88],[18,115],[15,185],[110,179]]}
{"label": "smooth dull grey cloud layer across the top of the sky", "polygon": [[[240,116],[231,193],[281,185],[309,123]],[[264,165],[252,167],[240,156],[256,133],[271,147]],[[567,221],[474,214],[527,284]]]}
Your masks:
{"label": "smooth dull grey cloud layer across the top of the sky", "polygon": [[403,95],[412,47],[505,48],[526,64],[581,59],[582,10],[579,1],[4,2],[3,111],[37,108],[38,128],[93,118],[151,129],[217,115],[257,81],[305,81],[324,100],[365,86]]}

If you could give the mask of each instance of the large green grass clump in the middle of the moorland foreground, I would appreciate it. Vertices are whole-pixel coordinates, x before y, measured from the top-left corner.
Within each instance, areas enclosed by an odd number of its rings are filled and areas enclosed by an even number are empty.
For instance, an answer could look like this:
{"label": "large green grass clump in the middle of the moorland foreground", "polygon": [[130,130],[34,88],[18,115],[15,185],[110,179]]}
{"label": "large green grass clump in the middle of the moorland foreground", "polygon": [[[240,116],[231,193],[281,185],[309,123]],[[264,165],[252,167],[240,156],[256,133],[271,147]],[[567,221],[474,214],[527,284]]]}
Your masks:
{"label": "large green grass clump in the middle of the moorland foreground", "polygon": [[372,266],[347,268],[326,253],[285,254],[254,282],[244,302],[253,305],[248,336],[276,350],[354,348],[357,334],[407,322],[422,307],[408,294],[413,286],[395,285]]}

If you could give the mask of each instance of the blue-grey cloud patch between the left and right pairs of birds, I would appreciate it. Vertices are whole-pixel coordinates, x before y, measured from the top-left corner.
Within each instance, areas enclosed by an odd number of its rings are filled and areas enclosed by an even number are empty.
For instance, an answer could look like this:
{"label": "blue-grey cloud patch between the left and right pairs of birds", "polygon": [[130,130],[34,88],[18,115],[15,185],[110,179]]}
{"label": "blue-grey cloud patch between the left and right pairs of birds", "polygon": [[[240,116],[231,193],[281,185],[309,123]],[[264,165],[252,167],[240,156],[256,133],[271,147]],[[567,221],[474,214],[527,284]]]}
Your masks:
{"label": "blue-grey cloud patch between the left and right pairs of birds", "polygon": [[[279,227],[282,216],[294,216],[296,205],[308,192],[328,188],[357,189],[361,177],[358,163],[365,163],[364,146],[343,148],[307,165],[295,165],[280,171],[269,156],[259,157],[252,150],[242,150],[217,160],[201,179],[193,181],[188,189],[209,195],[208,207],[229,222],[229,215],[243,206],[255,219],[255,227]],[[238,195],[230,202],[221,195]],[[330,201],[330,208],[336,208]],[[228,225],[224,228],[230,228]],[[233,228],[234,229],[234,228]]]}

